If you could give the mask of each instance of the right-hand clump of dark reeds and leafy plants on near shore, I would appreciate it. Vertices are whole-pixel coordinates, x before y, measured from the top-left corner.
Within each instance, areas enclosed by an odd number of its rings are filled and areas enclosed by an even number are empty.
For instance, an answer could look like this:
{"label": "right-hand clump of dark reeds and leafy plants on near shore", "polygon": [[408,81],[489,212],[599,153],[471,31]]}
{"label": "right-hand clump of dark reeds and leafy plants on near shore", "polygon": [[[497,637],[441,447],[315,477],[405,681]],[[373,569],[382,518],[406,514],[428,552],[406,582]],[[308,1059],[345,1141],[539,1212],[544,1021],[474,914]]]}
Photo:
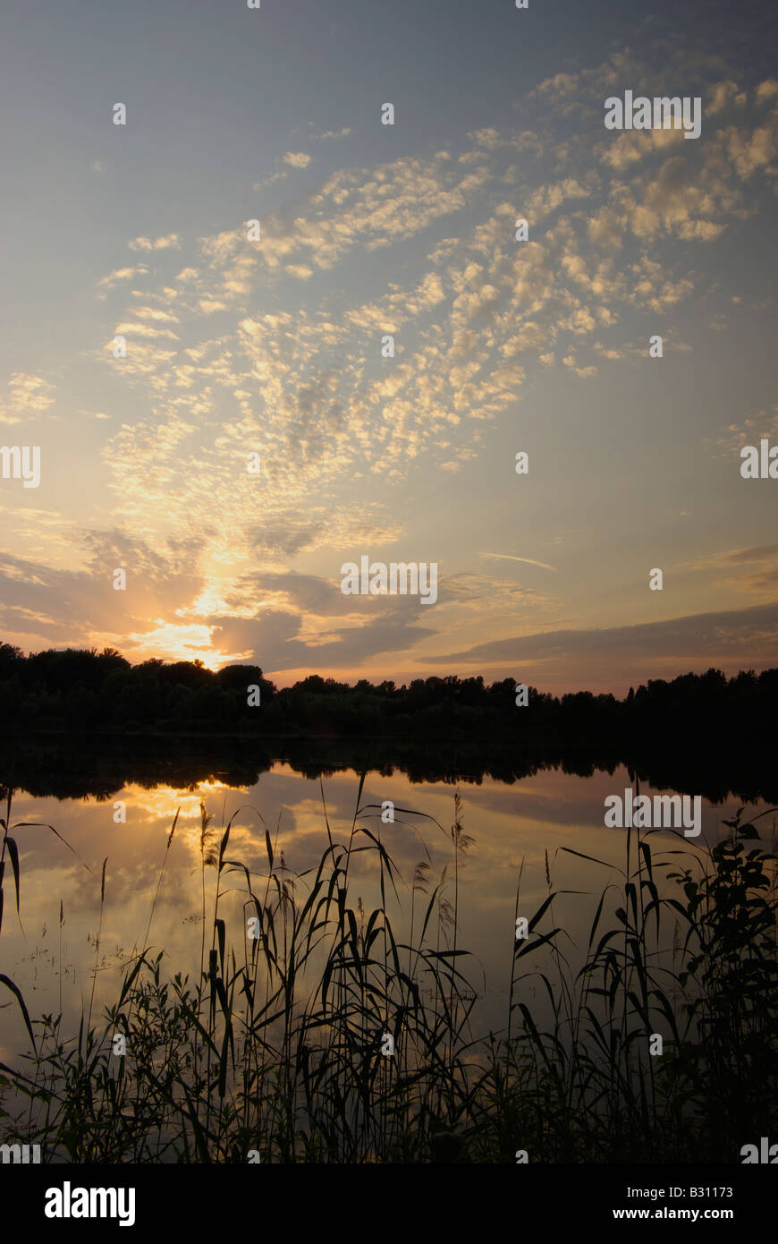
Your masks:
{"label": "right-hand clump of dark reeds and leafy plants on near shore", "polygon": [[[512,998],[518,984],[542,983],[552,1024],[541,1030],[526,1003],[512,1001],[523,1031],[492,1042],[481,1087],[502,1151],[518,1136],[551,1162],[738,1162],[743,1143],[767,1135],[771,1121],[774,1127],[776,855],[747,850],[761,817],[743,824],[741,816],[742,809],[723,822],[730,832],[712,848],[685,843],[657,858],[648,841],[656,831],[628,830],[626,866],[613,887],[621,899],[616,926],[600,931],[608,886],[578,973],[552,929],[544,937],[554,948],[556,983],[546,972],[512,978]],[[677,856],[691,865],[679,871]],[[677,891],[660,896],[659,867],[684,899]],[[517,948],[515,968],[538,942]],[[662,1039],[656,1056],[655,1036]]]}

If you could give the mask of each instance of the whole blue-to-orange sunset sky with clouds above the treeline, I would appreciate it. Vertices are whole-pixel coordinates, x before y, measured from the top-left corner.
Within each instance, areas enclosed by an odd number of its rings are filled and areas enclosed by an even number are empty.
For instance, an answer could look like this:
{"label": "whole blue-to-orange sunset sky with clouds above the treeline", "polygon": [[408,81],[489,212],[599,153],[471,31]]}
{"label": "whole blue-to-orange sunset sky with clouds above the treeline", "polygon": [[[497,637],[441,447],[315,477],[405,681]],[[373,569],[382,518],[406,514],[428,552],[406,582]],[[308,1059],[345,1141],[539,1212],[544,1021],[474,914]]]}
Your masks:
{"label": "whole blue-to-orange sunset sky with clouds above the treeline", "polygon": [[[0,639],[280,685],[777,666],[778,481],[741,474],[778,444],[777,25],[6,9],[0,442],[41,475],[0,479]],[[700,137],[606,129],[625,91]],[[344,595],[363,556],[437,600]]]}

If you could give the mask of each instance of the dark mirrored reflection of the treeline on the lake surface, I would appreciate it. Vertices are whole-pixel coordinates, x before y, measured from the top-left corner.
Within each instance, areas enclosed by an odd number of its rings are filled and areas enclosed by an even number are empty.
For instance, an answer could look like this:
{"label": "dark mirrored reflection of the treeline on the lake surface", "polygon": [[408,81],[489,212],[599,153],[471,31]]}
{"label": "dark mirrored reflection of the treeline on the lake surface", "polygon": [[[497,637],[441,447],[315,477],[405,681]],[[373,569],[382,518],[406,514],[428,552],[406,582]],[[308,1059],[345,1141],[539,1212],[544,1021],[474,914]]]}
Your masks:
{"label": "dark mirrored reflection of the treeline on the lake surface", "polygon": [[30,795],[56,799],[113,799],[129,785],[147,790],[167,784],[175,789],[199,787],[219,780],[246,789],[273,764],[287,764],[307,779],[338,771],[390,778],[395,770],[411,782],[480,785],[485,779],[508,785],[543,771],[578,778],[613,774],[625,766],[654,790],[700,794],[712,804],[731,796],[743,802],[778,802],[778,780],[762,749],[743,754],[711,755],[691,746],[640,753],[598,753],[551,745],[536,751],[511,749],[503,741],[472,744],[354,739],[263,739],[224,735],[176,738],[164,735],[41,738],[6,748],[0,790],[12,785]]}

